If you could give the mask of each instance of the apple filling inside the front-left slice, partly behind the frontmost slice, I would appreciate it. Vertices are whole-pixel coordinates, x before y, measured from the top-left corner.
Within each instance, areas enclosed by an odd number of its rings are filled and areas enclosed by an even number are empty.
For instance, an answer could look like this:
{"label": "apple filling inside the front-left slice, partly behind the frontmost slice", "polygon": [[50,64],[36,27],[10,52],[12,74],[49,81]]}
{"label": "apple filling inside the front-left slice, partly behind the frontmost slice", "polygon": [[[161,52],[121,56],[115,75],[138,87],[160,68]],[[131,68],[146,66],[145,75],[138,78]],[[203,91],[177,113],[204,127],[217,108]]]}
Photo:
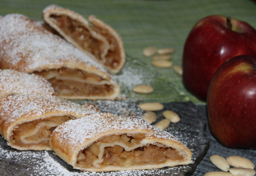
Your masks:
{"label": "apple filling inside the front-left slice, partly behind the frontmost slice", "polygon": [[49,146],[50,135],[53,130],[70,119],[69,116],[53,116],[44,120],[20,124],[12,131],[12,143],[22,147]]}

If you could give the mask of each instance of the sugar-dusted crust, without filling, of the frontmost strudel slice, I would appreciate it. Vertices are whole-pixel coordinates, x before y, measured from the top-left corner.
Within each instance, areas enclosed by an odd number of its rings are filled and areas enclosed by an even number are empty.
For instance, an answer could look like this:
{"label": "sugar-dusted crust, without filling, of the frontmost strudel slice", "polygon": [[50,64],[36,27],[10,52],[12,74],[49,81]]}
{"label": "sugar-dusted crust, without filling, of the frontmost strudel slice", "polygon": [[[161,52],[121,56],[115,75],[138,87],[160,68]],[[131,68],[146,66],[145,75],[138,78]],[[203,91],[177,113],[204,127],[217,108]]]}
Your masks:
{"label": "sugar-dusted crust, without filling, of the frontmost strudel slice", "polygon": [[[88,148],[94,142],[111,135],[133,135],[146,134],[140,141],[139,147],[149,144],[171,147],[179,152],[184,159],[168,161],[160,164],[136,164],[116,166],[95,166],[80,167],[76,162],[81,150]],[[115,142],[115,141],[113,141]],[[98,145],[98,144],[96,144]],[[191,151],[175,137],[158,128],[154,128],[142,118],[135,116],[115,116],[110,113],[93,114],[84,118],[70,120],[58,126],[50,138],[50,147],[61,159],[72,165],[75,169],[82,171],[119,171],[132,169],[153,169],[166,166],[175,166],[191,163]],[[97,165],[97,164],[96,164]]]}

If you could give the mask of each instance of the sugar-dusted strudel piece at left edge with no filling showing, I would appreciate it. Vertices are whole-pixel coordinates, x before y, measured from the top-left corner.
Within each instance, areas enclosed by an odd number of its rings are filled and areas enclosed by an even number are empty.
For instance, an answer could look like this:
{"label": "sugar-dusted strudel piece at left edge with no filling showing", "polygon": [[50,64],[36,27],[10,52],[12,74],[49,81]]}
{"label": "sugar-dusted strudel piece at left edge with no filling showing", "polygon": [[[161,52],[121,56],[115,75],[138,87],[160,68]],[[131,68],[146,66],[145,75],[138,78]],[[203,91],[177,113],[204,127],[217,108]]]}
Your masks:
{"label": "sugar-dusted strudel piece at left edge with no filling showing", "polygon": [[16,70],[0,70],[0,96],[5,95],[54,96],[52,85],[43,77]]}

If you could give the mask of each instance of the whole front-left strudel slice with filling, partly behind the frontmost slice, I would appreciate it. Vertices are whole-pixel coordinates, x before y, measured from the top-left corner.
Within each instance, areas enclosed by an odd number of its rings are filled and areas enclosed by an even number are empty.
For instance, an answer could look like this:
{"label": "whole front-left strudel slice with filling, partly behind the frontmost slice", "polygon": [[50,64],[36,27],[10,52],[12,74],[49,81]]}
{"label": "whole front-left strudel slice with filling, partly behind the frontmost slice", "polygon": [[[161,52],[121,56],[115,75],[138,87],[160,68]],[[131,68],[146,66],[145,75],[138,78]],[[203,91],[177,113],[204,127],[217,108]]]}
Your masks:
{"label": "whole front-left strudel slice with filling, partly behind the frontmost slice", "polygon": [[99,113],[99,109],[59,97],[9,95],[0,98],[0,112],[0,133],[8,145],[19,150],[50,150],[49,139],[56,126]]}

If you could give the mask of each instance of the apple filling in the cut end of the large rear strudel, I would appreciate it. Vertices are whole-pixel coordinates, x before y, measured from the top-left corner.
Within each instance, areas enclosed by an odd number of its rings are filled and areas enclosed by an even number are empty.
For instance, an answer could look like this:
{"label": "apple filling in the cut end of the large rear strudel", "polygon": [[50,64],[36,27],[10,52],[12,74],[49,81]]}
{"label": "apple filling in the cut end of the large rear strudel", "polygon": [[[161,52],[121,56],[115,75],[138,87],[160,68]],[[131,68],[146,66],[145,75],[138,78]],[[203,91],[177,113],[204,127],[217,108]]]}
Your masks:
{"label": "apple filling in the cut end of the large rear strudel", "polygon": [[57,95],[69,97],[107,97],[112,95],[114,87],[101,77],[78,69],[53,69],[35,72],[45,77]]}

